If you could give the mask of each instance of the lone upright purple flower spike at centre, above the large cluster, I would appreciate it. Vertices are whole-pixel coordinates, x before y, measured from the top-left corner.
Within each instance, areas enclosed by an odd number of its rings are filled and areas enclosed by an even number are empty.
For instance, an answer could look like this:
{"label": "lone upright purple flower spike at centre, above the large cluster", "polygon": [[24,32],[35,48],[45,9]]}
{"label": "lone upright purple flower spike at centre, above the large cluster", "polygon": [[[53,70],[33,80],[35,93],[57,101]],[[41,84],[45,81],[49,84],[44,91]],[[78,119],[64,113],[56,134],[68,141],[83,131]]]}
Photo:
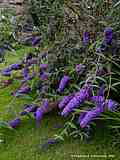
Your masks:
{"label": "lone upright purple flower spike at centre, above the large cluster", "polygon": [[63,78],[60,81],[59,88],[58,88],[57,91],[58,92],[63,92],[65,87],[66,87],[66,85],[69,83],[69,81],[70,81],[70,77],[69,76],[67,76],[67,75],[63,76]]}

